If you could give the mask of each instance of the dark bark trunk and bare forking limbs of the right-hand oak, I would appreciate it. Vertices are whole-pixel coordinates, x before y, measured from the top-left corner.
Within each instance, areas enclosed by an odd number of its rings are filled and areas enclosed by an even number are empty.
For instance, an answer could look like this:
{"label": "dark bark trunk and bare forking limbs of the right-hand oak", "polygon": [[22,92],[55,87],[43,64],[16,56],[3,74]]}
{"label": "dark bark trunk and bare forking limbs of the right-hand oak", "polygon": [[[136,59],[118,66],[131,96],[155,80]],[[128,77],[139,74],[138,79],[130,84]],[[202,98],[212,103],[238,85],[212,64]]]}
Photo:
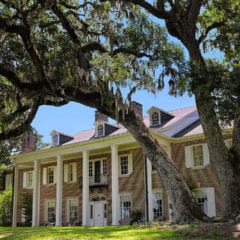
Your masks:
{"label": "dark bark trunk and bare forking limbs of the right-hand oak", "polygon": [[[158,7],[151,6],[146,1],[130,1],[148,10],[155,17],[164,19],[168,32],[179,39],[188,50],[190,65],[198,69],[190,70],[192,78],[192,92],[195,95],[196,105],[200,115],[201,124],[210,152],[210,159],[217,171],[221,187],[222,213],[227,218],[234,218],[240,214],[240,122],[239,114],[233,125],[232,147],[228,149],[224,143],[219,118],[215,110],[212,91],[210,89],[211,78],[208,75],[205,60],[200,51],[200,44],[212,29],[221,27],[224,23],[216,22],[209,25],[202,35],[197,39],[197,17],[200,8],[204,6],[203,1],[188,1],[186,6],[178,1],[171,5],[170,10],[164,10],[164,2],[158,0]],[[181,8],[178,5],[181,5]],[[161,14],[160,14],[161,13]]]}

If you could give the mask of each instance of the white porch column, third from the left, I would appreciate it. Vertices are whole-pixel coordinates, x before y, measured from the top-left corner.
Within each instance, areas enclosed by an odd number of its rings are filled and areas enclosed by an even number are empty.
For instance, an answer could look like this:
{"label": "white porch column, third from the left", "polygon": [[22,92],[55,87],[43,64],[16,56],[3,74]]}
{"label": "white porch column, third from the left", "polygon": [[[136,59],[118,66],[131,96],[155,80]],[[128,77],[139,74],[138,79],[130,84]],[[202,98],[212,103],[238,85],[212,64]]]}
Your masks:
{"label": "white porch column, third from the left", "polygon": [[62,182],[63,161],[60,154],[57,155],[57,186],[56,186],[56,226],[62,226]]}

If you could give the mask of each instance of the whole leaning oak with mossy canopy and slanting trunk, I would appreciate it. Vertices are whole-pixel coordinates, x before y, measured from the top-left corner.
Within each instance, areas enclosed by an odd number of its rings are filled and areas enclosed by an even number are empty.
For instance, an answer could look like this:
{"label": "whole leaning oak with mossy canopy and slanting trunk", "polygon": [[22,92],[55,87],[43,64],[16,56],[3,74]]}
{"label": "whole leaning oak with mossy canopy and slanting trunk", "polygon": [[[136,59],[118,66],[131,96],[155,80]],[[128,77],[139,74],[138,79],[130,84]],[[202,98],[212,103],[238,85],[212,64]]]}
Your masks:
{"label": "whole leaning oak with mossy canopy and slanting trunk", "polygon": [[[0,139],[23,133],[40,105],[75,101],[97,108],[125,126],[152,161],[174,221],[203,217],[174,163],[132,110],[135,91],[154,92],[155,77],[160,88],[164,76],[174,86],[186,72],[183,52],[165,30],[125,2],[0,1],[0,13]],[[126,97],[122,87],[129,88]]]}

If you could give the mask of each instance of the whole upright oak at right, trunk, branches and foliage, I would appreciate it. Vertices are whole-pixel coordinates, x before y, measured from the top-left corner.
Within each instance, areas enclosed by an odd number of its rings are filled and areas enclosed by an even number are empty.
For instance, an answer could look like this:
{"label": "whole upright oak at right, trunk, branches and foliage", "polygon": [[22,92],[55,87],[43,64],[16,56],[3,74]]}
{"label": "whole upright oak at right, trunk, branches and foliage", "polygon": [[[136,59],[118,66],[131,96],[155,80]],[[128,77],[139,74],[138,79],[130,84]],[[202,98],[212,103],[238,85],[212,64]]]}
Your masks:
{"label": "whole upright oak at right, trunk, branches and foliage", "polygon": [[[128,2],[163,20],[168,33],[185,47],[189,61],[187,83],[195,95],[211,162],[217,171],[223,215],[230,218],[239,215],[239,1]],[[221,55],[220,59],[214,58],[216,53]],[[176,91],[179,82],[175,82]],[[222,129],[229,123],[233,127],[230,149],[222,135]]]}

